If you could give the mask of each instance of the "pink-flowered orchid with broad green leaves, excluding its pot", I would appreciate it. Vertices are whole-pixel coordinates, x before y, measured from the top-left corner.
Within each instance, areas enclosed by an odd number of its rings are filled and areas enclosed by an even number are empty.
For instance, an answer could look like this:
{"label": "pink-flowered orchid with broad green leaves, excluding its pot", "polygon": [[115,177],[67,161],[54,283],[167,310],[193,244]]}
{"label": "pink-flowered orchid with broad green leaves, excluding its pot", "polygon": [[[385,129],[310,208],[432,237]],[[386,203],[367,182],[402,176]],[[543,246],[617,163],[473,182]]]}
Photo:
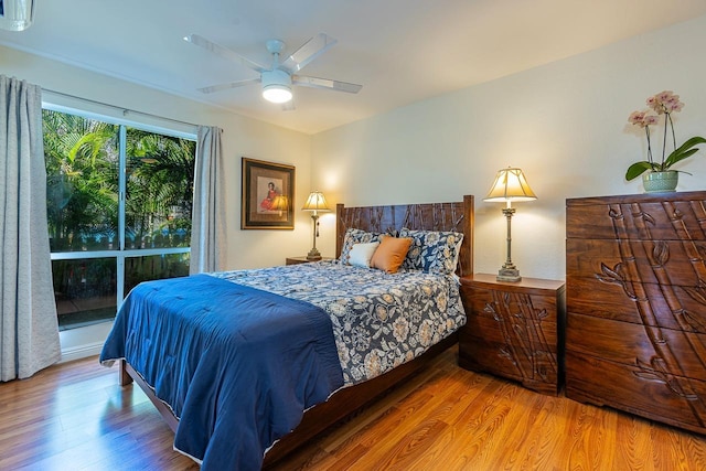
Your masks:
{"label": "pink-flowered orchid with broad green leaves, excluding its pot", "polygon": [[[633,111],[628,118],[628,122],[638,127],[644,128],[645,136],[648,137],[648,160],[635,162],[628,168],[625,172],[625,180],[630,181],[646,171],[652,172],[665,172],[670,170],[672,165],[680,162],[687,157],[693,156],[698,151],[699,143],[706,143],[706,139],[695,136],[688,139],[678,148],[676,147],[676,136],[674,133],[674,122],[672,121],[672,114],[681,111],[684,108],[684,104],[680,101],[680,96],[674,95],[673,92],[664,90],[654,96],[648,98],[648,107],[644,111]],[[656,126],[660,120],[660,115],[664,115],[664,139],[662,141],[662,159],[655,161],[652,157],[652,144],[650,142],[650,126]],[[668,156],[666,154],[666,141],[670,129],[672,130],[672,142],[674,150]],[[687,172],[684,172],[687,173]]]}

